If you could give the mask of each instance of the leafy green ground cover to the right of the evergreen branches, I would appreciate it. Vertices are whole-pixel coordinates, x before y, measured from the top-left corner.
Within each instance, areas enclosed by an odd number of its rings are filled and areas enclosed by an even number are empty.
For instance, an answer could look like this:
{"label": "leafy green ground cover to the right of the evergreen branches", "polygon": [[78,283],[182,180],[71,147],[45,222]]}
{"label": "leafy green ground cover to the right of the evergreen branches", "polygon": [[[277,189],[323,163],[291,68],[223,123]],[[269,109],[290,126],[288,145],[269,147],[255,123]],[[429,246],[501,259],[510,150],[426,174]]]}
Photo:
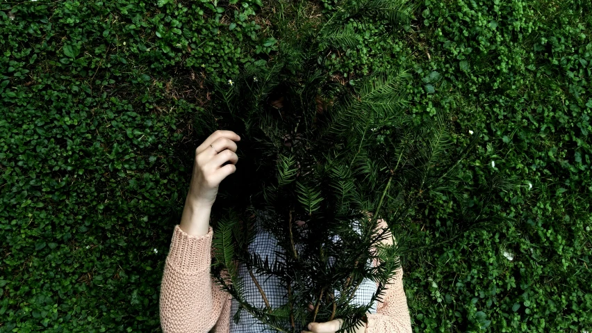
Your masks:
{"label": "leafy green ground cover to the right of the evergreen branches", "polygon": [[[484,132],[465,177],[482,184],[493,170],[523,186],[494,199],[495,211],[515,221],[509,225],[445,243],[454,225],[443,198],[404,226],[425,244],[405,266],[414,329],[590,330],[590,4],[419,4],[416,21],[392,42],[379,38],[381,25],[365,29],[356,48],[331,60],[336,75],[355,81],[366,68],[409,63],[411,113],[444,111],[459,145],[470,131]],[[368,60],[368,50],[380,56]]]}

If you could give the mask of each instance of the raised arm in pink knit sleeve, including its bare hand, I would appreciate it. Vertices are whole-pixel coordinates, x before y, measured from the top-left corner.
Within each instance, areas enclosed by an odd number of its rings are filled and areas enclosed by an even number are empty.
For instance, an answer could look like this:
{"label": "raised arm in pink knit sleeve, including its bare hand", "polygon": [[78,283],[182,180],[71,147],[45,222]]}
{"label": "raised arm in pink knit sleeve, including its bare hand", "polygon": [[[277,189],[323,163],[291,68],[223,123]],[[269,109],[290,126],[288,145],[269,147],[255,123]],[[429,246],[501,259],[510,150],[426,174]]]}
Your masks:
{"label": "raised arm in pink knit sleeve, including its bare hand", "polygon": [[233,131],[218,130],[195,149],[189,193],[181,223],[174,227],[161,282],[165,333],[206,333],[214,326],[216,332],[229,331],[231,296],[211,277],[209,220],[220,182],[236,171],[234,141],[239,140]]}

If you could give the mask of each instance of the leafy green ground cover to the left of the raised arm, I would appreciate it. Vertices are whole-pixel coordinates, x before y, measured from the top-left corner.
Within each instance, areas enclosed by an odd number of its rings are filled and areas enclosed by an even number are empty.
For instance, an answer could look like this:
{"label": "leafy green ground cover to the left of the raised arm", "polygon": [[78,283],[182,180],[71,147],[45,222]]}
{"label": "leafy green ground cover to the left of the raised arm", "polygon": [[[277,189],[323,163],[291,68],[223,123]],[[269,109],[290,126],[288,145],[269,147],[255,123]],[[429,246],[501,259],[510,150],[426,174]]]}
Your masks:
{"label": "leafy green ground cover to the left of the raised arm", "polygon": [[0,332],[158,327],[200,85],[265,62],[257,7],[0,4]]}

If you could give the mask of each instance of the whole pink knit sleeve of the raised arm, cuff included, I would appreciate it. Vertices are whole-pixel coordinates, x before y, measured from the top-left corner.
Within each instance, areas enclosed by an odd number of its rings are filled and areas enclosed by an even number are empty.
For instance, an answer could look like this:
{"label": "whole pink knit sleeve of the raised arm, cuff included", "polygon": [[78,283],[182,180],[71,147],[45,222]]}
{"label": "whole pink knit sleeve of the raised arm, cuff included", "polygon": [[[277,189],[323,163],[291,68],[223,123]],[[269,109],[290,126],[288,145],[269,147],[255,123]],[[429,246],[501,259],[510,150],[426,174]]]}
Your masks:
{"label": "whole pink knit sleeve of the raised arm, cuff included", "polygon": [[190,236],[174,227],[161,282],[164,333],[228,332],[231,296],[210,275],[213,230]]}

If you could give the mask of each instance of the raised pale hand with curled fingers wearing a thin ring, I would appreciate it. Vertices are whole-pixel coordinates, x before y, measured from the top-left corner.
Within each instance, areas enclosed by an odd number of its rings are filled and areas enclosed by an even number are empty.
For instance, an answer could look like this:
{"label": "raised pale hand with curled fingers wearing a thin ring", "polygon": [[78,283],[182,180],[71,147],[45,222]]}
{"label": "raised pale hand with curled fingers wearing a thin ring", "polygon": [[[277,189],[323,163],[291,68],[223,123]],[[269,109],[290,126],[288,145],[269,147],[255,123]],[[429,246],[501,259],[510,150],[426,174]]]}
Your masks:
{"label": "raised pale hand with curled fingers wearing a thin ring", "polygon": [[[235,141],[240,141],[237,133],[219,129],[195,149],[193,174],[187,195],[187,200],[191,204],[214,204],[222,179],[236,172],[238,156]],[[222,166],[226,162],[230,163]]]}

